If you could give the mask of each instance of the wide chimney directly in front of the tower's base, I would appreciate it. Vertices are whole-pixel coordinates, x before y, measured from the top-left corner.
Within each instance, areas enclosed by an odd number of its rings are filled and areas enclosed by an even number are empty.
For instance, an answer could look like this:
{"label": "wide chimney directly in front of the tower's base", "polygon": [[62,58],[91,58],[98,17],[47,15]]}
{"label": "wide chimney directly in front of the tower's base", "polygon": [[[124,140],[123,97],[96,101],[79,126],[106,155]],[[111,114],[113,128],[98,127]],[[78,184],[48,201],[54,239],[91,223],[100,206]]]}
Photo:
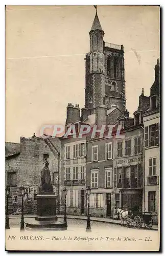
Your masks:
{"label": "wide chimney directly in front of the tower's base", "polygon": [[106,125],[107,123],[107,106],[101,105],[96,106],[96,124],[98,125],[98,128],[101,129],[101,126],[103,124]]}

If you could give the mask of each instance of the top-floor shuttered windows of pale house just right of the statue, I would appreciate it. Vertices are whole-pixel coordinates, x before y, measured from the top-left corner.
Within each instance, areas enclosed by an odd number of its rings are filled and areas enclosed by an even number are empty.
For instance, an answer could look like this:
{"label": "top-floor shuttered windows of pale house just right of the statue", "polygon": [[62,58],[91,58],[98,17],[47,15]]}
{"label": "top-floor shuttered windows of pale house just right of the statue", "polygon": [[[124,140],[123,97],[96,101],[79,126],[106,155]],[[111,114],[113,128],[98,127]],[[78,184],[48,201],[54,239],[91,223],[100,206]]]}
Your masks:
{"label": "top-floor shuttered windows of pale house just right of the statue", "polygon": [[[73,146],[73,158],[86,156],[86,143],[79,143]],[[65,158],[70,159],[70,145],[65,146]]]}

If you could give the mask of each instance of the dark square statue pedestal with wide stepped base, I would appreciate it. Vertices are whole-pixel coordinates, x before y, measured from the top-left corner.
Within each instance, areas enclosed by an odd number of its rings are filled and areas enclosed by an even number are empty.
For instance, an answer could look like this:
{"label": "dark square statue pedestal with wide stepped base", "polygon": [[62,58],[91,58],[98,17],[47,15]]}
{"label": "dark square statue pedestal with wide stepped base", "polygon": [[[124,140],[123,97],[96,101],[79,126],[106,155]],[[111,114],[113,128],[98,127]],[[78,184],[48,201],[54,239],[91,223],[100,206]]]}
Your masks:
{"label": "dark square statue pedestal with wide stepped base", "polygon": [[27,230],[66,230],[67,224],[58,221],[56,216],[56,199],[52,193],[39,194],[35,220],[26,223]]}

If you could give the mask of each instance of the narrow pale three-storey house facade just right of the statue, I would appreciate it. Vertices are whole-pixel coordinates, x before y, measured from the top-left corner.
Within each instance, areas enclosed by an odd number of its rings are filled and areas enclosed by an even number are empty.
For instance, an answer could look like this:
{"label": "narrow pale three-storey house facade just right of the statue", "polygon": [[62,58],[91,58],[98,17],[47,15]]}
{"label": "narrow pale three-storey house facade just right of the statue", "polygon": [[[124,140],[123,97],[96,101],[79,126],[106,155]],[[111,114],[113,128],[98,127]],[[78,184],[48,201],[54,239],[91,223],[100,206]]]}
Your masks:
{"label": "narrow pale three-storey house facade just right of the statue", "polygon": [[86,139],[61,138],[60,211],[64,211],[64,187],[67,189],[68,215],[86,212]]}

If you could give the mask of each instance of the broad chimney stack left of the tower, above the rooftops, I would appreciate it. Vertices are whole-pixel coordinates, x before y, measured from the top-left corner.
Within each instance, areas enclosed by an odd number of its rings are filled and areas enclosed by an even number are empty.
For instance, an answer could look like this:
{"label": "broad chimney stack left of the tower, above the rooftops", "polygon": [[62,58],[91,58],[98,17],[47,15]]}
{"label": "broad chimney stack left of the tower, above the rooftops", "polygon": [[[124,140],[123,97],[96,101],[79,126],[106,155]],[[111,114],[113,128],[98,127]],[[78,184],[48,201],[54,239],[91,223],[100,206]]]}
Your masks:
{"label": "broad chimney stack left of the tower, above the rooftops", "polygon": [[80,108],[79,104],[76,103],[74,106],[72,103],[67,104],[66,108],[66,125],[69,123],[75,123],[76,121],[80,121]]}

